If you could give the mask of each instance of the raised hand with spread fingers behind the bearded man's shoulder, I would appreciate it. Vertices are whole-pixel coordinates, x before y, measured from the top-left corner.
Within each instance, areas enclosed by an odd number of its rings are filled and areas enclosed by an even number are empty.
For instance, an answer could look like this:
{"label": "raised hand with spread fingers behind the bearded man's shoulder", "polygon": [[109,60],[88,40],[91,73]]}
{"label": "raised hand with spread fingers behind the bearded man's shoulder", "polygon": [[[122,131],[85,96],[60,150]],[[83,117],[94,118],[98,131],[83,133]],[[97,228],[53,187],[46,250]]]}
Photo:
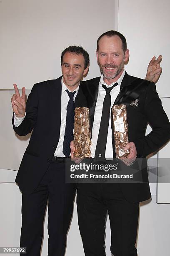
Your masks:
{"label": "raised hand with spread fingers behind the bearded man's shoulder", "polygon": [[154,56],[147,69],[146,80],[156,83],[160,77],[162,72],[162,68],[160,67],[160,61],[162,60],[162,55],[159,55],[158,59]]}

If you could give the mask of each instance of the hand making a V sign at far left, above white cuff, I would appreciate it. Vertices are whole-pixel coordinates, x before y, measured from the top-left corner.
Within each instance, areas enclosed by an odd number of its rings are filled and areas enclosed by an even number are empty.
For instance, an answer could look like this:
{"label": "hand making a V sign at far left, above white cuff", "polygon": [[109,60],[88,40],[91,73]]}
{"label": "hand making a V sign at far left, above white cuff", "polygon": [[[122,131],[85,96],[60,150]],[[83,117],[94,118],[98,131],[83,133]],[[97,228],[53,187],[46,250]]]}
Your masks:
{"label": "hand making a V sign at far left, above white cuff", "polygon": [[25,115],[25,108],[26,108],[25,87],[23,87],[22,89],[21,97],[16,84],[14,84],[14,89],[15,89],[15,94],[11,98],[13,111],[16,117],[23,117]]}

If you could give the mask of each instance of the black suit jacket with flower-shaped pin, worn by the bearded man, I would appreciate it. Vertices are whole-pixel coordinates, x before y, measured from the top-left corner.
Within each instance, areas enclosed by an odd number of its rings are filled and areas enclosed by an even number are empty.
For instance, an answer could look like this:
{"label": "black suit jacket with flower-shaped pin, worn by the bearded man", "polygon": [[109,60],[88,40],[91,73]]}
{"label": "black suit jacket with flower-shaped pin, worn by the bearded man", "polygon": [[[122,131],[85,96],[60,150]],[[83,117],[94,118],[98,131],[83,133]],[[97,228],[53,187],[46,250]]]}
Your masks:
{"label": "black suit jacket with flower-shaped pin, worn by the bearded man", "polygon": [[[81,84],[81,98],[76,106],[90,108],[91,130],[94,120],[95,105],[98,95],[98,84],[100,77],[88,80]],[[133,100],[138,99],[138,107],[131,106]],[[124,103],[127,106],[128,137],[129,141],[135,143],[138,158],[143,158],[143,170],[141,176],[148,182],[148,172],[145,157],[158,150],[170,139],[170,123],[163,110],[161,100],[156,92],[153,82],[129,76],[125,73],[122,80],[120,93],[114,105]],[[147,123],[153,131],[145,136]],[[114,140],[113,140],[114,141]],[[114,151],[113,144],[113,152]],[[125,166],[126,168],[126,166]],[[120,184],[122,192],[128,201],[140,202],[150,198],[148,183],[143,184]]]}

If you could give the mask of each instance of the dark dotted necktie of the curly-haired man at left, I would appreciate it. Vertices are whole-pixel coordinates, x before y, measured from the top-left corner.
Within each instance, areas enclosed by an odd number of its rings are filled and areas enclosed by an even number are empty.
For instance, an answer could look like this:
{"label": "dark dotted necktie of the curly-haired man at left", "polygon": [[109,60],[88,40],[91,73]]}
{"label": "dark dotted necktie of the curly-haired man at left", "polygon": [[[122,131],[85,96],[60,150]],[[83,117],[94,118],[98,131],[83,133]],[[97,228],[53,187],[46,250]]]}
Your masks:
{"label": "dark dotted necktie of the curly-haired man at left", "polygon": [[65,124],[65,134],[64,134],[64,141],[63,141],[63,148],[62,152],[66,157],[70,156],[70,142],[73,140],[73,128],[74,128],[74,95],[76,91],[69,92],[68,96],[70,97],[70,100],[67,104],[67,116],[66,116],[66,124]]}

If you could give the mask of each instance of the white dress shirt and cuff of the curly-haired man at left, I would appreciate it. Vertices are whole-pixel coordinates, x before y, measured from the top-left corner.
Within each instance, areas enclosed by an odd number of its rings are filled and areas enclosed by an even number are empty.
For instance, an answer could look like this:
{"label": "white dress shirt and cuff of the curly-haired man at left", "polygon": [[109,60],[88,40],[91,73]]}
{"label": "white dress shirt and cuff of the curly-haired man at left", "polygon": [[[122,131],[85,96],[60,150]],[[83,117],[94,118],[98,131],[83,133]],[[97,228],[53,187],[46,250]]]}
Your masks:
{"label": "white dress shirt and cuff of the curly-haired man at left", "polygon": [[[77,95],[78,89],[79,89],[79,86],[75,89],[76,93],[75,93],[74,98],[73,98],[74,101],[75,101],[75,97]],[[60,126],[60,139],[59,139],[57,148],[56,148],[55,153],[54,153],[54,156],[57,156],[57,157],[65,157],[65,155],[62,153],[62,148],[63,148],[64,134],[65,134],[67,104],[68,104],[68,101],[70,100],[70,97],[68,96],[66,90],[71,92],[66,87],[66,85],[64,84],[63,78],[62,78],[62,80],[61,80],[61,126]],[[14,125],[15,125],[15,127],[18,127],[22,123],[24,118],[25,118],[25,116],[22,117],[22,118],[17,118],[16,115],[14,114]]]}

